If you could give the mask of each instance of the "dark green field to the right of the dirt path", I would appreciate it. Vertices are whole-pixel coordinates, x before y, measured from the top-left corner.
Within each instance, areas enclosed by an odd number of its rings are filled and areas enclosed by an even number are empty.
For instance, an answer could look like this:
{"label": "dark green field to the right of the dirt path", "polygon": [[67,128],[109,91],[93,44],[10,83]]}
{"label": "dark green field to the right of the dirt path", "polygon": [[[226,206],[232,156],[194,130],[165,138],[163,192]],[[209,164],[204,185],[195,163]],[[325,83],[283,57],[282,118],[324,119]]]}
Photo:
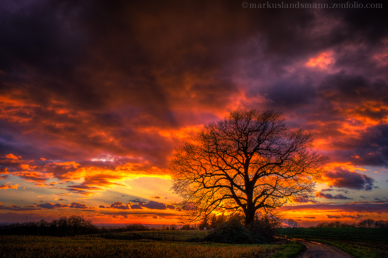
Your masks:
{"label": "dark green field to the right of the dirt path", "polygon": [[277,235],[331,244],[357,258],[388,258],[388,228],[282,228]]}

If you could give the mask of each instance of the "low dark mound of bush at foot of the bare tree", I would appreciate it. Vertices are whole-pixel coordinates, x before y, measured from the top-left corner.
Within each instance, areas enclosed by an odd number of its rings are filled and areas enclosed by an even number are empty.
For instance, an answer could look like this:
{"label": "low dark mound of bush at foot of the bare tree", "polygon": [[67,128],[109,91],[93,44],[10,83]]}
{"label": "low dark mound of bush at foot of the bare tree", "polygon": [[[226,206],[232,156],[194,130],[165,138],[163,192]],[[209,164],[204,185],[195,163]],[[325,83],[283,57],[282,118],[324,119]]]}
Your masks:
{"label": "low dark mound of bush at foot of the bare tree", "polygon": [[270,242],[234,220],[223,223],[201,241],[223,244],[266,244]]}

